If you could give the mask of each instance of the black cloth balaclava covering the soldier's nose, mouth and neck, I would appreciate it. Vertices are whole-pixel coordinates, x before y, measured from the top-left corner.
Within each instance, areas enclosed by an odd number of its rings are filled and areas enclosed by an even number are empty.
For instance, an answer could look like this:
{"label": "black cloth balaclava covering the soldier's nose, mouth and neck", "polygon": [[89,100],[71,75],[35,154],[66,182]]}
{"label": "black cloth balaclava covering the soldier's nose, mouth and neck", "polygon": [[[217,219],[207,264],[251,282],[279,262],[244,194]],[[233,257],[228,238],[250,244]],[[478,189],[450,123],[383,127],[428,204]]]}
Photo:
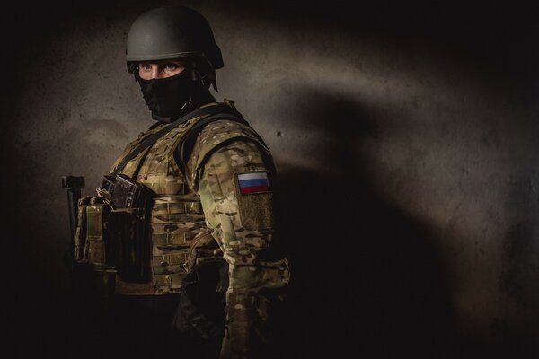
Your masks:
{"label": "black cloth balaclava covering the soldier's nose, mouth and neck", "polygon": [[171,77],[151,80],[140,78],[136,72],[135,78],[152,118],[159,122],[172,122],[201,105],[215,101],[191,68]]}

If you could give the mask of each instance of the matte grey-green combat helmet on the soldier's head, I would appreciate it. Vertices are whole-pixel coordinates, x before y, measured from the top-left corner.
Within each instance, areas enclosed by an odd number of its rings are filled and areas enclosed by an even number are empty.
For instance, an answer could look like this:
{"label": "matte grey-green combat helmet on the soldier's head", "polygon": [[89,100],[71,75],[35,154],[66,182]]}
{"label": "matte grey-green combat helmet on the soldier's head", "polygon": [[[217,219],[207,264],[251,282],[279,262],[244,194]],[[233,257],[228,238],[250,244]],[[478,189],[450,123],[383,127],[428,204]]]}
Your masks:
{"label": "matte grey-green combat helmet on the soldier's head", "polygon": [[128,32],[128,71],[140,61],[191,59],[208,71],[222,68],[223,57],[208,21],[188,7],[158,7],[138,16]]}

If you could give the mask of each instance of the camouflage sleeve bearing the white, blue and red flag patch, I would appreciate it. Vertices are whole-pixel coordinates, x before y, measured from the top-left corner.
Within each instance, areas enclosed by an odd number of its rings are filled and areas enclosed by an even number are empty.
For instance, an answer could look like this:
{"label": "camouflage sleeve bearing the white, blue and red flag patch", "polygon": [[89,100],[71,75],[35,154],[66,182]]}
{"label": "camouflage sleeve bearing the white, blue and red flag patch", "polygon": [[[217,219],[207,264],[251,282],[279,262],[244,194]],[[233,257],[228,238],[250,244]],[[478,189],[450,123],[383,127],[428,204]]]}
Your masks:
{"label": "camouflage sleeve bearing the white, blue and red flag patch", "polygon": [[[270,155],[248,131],[233,127],[217,123],[202,132],[198,153],[208,154],[193,176],[208,227],[229,264],[220,355],[227,359],[260,357],[255,352],[271,340],[269,298],[289,281],[287,258],[262,258],[271,250],[273,235]],[[204,150],[208,141],[211,151]]]}

